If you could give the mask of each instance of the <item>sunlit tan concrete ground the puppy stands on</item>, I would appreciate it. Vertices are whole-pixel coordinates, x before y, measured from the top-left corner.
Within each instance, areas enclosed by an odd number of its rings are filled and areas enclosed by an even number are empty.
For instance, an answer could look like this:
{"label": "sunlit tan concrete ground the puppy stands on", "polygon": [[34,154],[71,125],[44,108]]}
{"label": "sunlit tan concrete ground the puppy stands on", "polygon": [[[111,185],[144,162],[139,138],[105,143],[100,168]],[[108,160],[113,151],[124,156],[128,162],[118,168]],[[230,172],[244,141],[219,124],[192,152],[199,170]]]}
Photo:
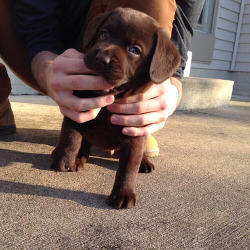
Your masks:
{"label": "sunlit tan concrete ground the puppy stands on", "polygon": [[83,171],[51,171],[62,116],[18,98],[17,134],[0,140],[1,249],[249,249],[249,102],[176,112],[136,207],[117,211],[105,204],[117,158],[94,149]]}

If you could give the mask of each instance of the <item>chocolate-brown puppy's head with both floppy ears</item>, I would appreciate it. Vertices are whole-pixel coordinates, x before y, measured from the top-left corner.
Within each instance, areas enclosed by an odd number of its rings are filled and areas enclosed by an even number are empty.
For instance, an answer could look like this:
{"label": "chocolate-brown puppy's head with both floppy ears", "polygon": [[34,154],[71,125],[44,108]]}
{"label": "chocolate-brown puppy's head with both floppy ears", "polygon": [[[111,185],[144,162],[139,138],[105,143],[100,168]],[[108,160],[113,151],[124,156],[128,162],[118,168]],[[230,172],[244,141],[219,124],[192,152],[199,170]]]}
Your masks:
{"label": "chocolate-brown puppy's head with both floppy ears", "polygon": [[[110,94],[161,83],[176,71],[180,55],[159,24],[148,15],[118,8],[95,17],[83,38],[88,68],[114,86]],[[98,94],[107,94],[101,93]]]}

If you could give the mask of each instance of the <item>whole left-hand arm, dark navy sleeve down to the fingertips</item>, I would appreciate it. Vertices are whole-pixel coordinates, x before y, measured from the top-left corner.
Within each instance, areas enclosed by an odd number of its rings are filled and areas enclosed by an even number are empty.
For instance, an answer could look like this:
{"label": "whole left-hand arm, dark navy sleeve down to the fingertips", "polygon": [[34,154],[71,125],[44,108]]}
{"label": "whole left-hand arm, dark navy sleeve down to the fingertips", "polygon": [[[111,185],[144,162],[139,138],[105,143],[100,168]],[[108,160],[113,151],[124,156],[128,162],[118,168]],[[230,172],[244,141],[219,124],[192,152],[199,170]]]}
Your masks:
{"label": "whole left-hand arm, dark navy sleeve down to the fingertips", "polygon": [[[81,99],[73,90],[108,89],[111,86],[84,64],[84,55],[65,50],[61,40],[60,1],[13,0],[13,19],[22,38],[34,78],[43,92],[54,99],[62,114],[77,122],[96,117],[113,96]],[[85,111],[85,112],[82,112]]]}

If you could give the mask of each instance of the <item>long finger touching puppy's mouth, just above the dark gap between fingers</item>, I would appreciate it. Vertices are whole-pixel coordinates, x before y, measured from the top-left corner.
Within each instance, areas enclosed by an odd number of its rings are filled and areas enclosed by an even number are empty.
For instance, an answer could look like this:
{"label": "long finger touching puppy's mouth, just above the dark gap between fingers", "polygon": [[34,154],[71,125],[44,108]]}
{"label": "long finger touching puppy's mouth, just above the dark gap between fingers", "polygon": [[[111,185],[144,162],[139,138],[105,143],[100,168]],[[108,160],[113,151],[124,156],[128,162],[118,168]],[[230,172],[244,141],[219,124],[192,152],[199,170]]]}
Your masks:
{"label": "long finger touching puppy's mouth, just above the dark gap between fingers", "polygon": [[103,90],[112,89],[101,76],[93,75],[68,75],[57,77],[51,80],[50,85],[53,90]]}

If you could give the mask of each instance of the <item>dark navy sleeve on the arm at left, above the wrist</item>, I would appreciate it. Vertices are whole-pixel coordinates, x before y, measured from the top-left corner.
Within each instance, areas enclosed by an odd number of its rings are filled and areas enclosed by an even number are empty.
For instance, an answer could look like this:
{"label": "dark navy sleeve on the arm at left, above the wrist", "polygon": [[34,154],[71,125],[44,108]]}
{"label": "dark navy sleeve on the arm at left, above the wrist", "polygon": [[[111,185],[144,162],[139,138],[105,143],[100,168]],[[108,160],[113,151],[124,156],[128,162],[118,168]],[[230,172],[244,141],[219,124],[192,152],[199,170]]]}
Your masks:
{"label": "dark navy sleeve on the arm at left, above the wrist", "polygon": [[29,64],[41,51],[61,54],[65,48],[61,42],[60,1],[12,0],[15,29],[22,39]]}

